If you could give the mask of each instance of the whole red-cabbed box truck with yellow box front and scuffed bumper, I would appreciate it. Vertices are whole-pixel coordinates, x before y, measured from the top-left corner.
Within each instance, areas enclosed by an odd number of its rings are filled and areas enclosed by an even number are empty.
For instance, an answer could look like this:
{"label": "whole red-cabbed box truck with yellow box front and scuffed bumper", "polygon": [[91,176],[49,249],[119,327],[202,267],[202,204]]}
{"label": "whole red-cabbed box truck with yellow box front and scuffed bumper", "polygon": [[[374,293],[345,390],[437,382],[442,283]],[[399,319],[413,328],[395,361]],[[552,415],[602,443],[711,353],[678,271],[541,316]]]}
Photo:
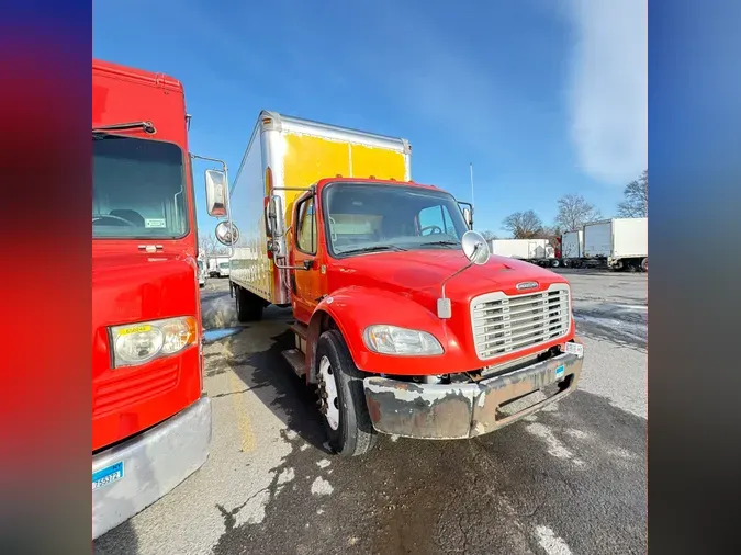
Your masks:
{"label": "whole red-cabbed box truck with yellow box front and scuffed bumper", "polygon": [[283,355],[340,455],[379,432],[493,432],[569,395],[582,369],[568,282],[490,257],[472,206],[409,168],[404,139],[261,112],[216,226],[239,320],[291,307]]}

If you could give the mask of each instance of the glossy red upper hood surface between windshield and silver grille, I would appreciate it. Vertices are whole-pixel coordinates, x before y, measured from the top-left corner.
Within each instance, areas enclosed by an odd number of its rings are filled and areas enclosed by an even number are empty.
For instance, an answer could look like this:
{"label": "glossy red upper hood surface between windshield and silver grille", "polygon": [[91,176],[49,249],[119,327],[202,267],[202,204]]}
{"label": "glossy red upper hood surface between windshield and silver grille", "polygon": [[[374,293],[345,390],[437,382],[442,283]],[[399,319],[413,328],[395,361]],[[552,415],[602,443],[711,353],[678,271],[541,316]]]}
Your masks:
{"label": "glossy red upper hood surface between windshield and silver grille", "polygon": [[[368,253],[339,260],[333,267],[338,278],[350,279],[348,281],[355,284],[435,302],[440,296],[442,281],[465,264],[468,259],[461,250],[440,249]],[[517,293],[516,285],[526,281],[538,283],[538,287],[530,292],[566,282],[554,272],[529,262],[492,254],[486,264],[472,265],[450,280],[446,285],[446,296],[468,302],[492,291],[513,295]]]}

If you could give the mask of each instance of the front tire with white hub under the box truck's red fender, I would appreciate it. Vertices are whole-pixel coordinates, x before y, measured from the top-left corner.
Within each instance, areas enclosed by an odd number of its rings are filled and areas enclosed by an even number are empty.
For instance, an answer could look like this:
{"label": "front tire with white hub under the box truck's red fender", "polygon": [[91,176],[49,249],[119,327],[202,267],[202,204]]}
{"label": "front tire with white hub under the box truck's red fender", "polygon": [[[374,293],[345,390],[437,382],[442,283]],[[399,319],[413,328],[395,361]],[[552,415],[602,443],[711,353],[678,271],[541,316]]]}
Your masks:
{"label": "front tire with white hub under the box truck's red fender", "polygon": [[[326,363],[329,369],[325,366],[322,371]],[[375,445],[378,433],[368,414],[363,374],[352,362],[350,351],[338,330],[332,329],[319,336],[316,344],[316,371],[323,403],[332,401],[329,397],[336,399],[333,403],[336,408],[334,416],[326,407],[322,407],[329,446],[335,453],[346,457],[368,453]],[[325,380],[334,382],[334,392],[333,384],[325,385]],[[330,418],[335,417],[338,417],[338,421],[330,422]]]}

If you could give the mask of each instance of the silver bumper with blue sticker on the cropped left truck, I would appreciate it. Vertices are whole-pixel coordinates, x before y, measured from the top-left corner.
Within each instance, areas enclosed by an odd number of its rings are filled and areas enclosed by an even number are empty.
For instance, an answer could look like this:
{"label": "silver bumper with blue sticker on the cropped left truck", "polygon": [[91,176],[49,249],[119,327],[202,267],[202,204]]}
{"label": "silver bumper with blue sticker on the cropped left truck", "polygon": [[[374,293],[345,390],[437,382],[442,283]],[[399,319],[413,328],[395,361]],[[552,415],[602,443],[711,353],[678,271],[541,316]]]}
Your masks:
{"label": "silver bumper with blue sticker on the cropped left truck", "polygon": [[209,457],[211,399],[92,457],[92,539],[168,494]]}

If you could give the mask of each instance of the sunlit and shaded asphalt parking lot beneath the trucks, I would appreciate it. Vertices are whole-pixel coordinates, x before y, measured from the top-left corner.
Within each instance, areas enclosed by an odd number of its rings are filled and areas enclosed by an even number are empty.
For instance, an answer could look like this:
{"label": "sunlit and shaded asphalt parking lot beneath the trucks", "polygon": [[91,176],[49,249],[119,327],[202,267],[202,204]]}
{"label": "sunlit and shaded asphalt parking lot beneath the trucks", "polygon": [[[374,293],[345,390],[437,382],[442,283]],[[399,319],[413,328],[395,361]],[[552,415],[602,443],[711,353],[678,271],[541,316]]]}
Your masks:
{"label": "sunlit and shaded asphalt parking lot beneath the trucks", "polygon": [[94,542],[98,554],[647,552],[645,274],[560,270],[585,343],[581,387],[468,441],[382,437],[327,452],[315,397],[283,362],[289,310],[239,326],[226,280],[202,290],[213,398],[206,464]]}

